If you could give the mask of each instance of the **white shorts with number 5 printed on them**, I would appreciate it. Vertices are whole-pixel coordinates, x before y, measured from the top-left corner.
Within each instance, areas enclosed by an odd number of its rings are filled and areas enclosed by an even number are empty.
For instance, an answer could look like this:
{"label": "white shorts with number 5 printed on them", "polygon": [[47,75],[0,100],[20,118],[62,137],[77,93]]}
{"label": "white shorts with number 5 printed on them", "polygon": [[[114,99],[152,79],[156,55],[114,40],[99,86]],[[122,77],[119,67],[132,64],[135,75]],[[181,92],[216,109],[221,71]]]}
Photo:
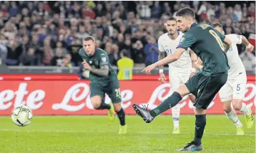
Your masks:
{"label": "white shorts with number 5 printed on them", "polygon": [[246,75],[239,75],[235,79],[228,79],[219,91],[220,101],[227,102],[232,99],[243,100],[246,92]]}

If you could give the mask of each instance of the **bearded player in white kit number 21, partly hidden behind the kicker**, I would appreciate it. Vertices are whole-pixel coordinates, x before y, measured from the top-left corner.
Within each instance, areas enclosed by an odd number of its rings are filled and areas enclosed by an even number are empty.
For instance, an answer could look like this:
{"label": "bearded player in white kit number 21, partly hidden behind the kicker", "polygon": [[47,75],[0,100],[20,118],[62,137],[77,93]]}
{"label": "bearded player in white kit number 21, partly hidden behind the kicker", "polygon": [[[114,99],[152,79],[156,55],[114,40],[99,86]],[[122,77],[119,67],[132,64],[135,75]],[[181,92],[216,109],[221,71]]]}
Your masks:
{"label": "bearded player in white kit number 21, partly hidden behind the kicker", "polygon": [[[164,52],[167,53],[167,56],[174,53],[183,36],[182,32],[177,31],[177,21],[175,18],[168,19],[166,28],[168,32],[164,33],[158,39],[159,60],[164,58]],[[190,58],[189,52],[192,58]],[[195,63],[196,60],[197,56],[190,50],[185,51],[179,60],[169,63],[169,81],[172,86],[172,91],[176,91],[180,85],[187,83],[189,76],[195,73],[195,68],[192,68],[192,63]],[[165,83],[162,68],[163,67],[160,67],[159,69],[159,75],[162,83]],[[189,98],[192,100],[192,102],[194,102],[194,95],[189,95]],[[172,119],[174,124],[174,130],[172,132],[173,134],[179,134],[179,113],[179,105],[172,107]]]}

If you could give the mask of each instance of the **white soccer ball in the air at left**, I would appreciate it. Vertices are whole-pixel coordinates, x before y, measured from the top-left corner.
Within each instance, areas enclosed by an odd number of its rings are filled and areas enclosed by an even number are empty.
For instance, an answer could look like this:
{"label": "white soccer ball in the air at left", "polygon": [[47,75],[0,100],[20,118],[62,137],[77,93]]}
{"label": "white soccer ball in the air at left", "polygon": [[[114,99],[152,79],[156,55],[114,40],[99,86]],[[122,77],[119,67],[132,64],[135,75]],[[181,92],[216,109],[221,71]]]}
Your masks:
{"label": "white soccer ball in the air at left", "polygon": [[32,118],[32,111],[25,105],[15,107],[11,112],[11,120],[15,125],[18,125],[19,127],[30,125]]}

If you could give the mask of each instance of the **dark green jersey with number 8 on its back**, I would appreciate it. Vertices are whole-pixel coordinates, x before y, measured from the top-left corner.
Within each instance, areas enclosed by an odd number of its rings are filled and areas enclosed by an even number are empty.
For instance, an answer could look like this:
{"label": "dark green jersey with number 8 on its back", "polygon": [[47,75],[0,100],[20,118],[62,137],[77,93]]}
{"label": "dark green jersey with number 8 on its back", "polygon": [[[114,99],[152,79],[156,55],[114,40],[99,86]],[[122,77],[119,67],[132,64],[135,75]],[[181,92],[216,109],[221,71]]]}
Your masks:
{"label": "dark green jersey with number 8 on its back", "polygon": [[227,63],[225,45],[222,43],[225,35],[215,28],[207,24],[193,23],[183,37],[177,48],[186,50],[191,48],[202,59],[204,63],[203,75],[212,76],[227,72],[230,69]]}

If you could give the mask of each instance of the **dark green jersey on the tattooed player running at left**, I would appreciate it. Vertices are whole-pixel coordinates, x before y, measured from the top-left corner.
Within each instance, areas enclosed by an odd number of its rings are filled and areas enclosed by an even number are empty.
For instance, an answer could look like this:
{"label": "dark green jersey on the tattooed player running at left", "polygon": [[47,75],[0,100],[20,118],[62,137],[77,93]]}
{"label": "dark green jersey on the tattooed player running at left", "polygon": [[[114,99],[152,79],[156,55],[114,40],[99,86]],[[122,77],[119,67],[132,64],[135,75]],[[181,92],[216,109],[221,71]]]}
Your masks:
{"label": "dark green jersey on the tattooed player running at left", "polygon": [[79,55],[90,66],[92,66],[92,68],[100,68],[104,65],[109,66],[109,75],[107,76],[100,76],[94,73],[90,73],[89,80],[91,80],[91,82],[104,82],[107,80],[111,80],[112,78],[117,78],[117,73],[109,64],[109,56],[107,56],[107,53],[101,48],[96,48],[93,56],[88,56],[87,53],[84,51],[84,48],[80,48]]}

